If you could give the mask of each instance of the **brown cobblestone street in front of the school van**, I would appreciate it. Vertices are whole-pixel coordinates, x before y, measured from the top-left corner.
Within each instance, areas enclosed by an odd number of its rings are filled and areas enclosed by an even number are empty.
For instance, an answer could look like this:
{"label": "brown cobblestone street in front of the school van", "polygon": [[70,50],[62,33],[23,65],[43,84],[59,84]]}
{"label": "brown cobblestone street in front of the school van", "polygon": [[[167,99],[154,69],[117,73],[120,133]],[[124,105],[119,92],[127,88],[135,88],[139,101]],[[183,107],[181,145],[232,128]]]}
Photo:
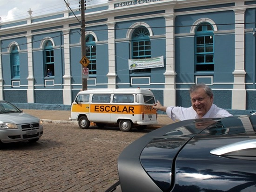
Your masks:
{"label": "brown cobblestone street in front of the school van", "polygon": [[118,180],[121,151],[150,131],[45,123],[37,143],[1,146],[0,191],[104,192]]}

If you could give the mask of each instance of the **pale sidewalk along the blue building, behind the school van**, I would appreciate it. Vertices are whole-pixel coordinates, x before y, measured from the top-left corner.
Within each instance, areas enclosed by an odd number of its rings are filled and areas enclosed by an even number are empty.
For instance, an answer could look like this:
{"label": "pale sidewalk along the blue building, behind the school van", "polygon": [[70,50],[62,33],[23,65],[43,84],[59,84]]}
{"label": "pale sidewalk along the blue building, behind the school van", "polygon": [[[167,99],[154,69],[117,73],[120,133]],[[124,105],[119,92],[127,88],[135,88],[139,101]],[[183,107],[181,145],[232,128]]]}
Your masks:
{"label": "pale sidewalk along the blue building, behind the school van", "polygon": [[[67,124],[77,124],[77,121],[69,120],[70,111],[66,110],[37,110],[37,109],[22,109],[24,113],[34,115],[44,122],[49,123],[67,123]],[[155,128],[159,128],[171,123],[174,121],[168,118],[167,115],[159,114],[157,118],[158,124],[153,125]],[[152,127],[152,128],[153,128]]]}

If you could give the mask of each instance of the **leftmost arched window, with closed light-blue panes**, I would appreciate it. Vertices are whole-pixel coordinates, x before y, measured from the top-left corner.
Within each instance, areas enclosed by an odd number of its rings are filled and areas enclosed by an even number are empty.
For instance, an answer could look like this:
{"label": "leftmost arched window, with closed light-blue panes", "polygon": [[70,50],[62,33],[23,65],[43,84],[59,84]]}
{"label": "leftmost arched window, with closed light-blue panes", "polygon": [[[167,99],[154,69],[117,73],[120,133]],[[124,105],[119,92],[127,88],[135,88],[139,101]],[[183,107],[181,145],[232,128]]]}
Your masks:
{"label": "leftmost arched window, with closed light-blue panes", "polygon": [[12,78],[20,78],[20,56],[18,46],[13,45],[11,50]]}

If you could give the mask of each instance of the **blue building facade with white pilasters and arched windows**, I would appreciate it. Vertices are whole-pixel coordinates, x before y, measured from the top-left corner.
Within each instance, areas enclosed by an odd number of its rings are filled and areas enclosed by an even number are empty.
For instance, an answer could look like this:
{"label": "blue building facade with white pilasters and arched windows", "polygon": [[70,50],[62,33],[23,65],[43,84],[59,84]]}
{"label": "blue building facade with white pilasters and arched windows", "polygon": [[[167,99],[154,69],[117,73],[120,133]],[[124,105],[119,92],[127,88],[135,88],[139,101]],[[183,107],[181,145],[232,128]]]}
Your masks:
{"label": "blue building facade with white pilasters and arched windows", "polygon": [[217,106],[256,109],[256,0],[110,0],[87,7],[86,42],[77,18],[66,9],[0,23],[0,99],[69,107],[85,43],[88,89],[140,87],[164,106],[187,107],[189,87],[205,83]]}

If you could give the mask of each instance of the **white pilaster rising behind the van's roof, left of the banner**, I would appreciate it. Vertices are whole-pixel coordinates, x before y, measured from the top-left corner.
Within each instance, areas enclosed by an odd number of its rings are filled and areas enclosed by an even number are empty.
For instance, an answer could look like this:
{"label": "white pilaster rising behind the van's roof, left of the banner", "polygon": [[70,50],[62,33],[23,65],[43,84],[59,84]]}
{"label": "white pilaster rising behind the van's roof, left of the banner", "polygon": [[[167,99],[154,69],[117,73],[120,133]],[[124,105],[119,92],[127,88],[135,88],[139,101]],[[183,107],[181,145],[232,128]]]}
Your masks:
{"label": "white pilaster rising behind the van's roof, left of the banner", "polygon": [[108,18],[108,88],[116,88],[115,73],[115,22]]}

